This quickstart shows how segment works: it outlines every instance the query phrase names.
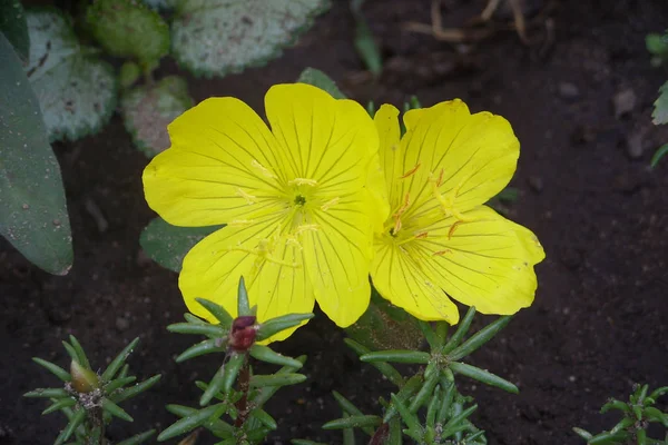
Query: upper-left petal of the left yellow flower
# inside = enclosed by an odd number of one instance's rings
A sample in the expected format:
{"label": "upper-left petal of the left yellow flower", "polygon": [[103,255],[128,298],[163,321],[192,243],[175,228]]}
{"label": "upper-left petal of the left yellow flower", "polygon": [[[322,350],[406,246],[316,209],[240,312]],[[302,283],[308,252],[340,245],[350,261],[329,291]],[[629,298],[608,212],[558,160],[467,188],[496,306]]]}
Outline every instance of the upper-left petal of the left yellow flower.
{"label": "upper-left petal of the left yellow flower", "polygon": [[144,170],[148,205],[176,226],[210,226],[263,212],[286,181],[262,119],[234,98],[207,99],[168,127],[171,148]]}

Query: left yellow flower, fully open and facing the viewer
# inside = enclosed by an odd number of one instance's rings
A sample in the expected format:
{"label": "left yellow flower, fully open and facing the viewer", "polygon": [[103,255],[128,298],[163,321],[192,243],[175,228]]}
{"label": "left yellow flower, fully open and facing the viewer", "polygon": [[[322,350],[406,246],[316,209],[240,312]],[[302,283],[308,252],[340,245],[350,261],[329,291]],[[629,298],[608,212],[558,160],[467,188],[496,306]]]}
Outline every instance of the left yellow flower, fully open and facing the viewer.
{"label": "left yellow flower, fully open and facing the viewer", "polygon": [[144,171],[146,199],[167,222],[227,224],[185,257],[184,299],[204,318],[195,298],[236,316],[244,276],[259,322],[317,300],[348,326],[369,306],[382,225],[365,187],[377,170],[375,126],[358,103],[302,83],[272,87],[265,109],[271,130],[237,99],[203,101],[169,126],[171,147]]}

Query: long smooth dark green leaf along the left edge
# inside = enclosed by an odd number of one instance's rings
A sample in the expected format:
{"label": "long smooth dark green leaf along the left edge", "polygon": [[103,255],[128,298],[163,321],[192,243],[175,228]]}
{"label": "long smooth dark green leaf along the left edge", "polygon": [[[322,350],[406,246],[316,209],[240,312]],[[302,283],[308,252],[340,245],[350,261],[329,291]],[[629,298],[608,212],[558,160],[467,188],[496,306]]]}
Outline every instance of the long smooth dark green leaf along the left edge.
{"label": "long smooth dark green leaf along the left edge", "polygon": [[72,265],[60,166],[21,61],[0,33],[0,234],[56,275]]}

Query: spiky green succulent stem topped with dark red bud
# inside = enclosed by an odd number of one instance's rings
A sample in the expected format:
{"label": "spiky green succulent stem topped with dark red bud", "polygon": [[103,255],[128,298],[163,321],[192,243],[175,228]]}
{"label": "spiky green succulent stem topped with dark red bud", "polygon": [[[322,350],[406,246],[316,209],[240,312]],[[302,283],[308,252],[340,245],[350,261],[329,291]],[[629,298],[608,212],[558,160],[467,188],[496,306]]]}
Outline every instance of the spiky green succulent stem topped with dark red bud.
{"label": "spiky green succulent stem topped with dark red bud", "polygon": [[[195,428],[208,429],[225,444],[259,444],[266,435],[277,428],[276,421],[263,409],[264,404],[283,386],[296,385],[306,376],[295,373],[305,362],[305,357],[286,357],[258,345],[255,340],[267,338],[283,329],[288,329],[313,317],[313,314],[292,314],[265,323],[256,323],[248,305],[244,279],[238,288],[239,317],[233,319],[224,307],[200,299],[199,303],[220,323],[207,324],[197,317],[186,316],[187,323],[168,326],[170,332],[205,335],[208,339],[186,349],[177,362],[203,354],[224,353],[223,364],[212,380],[197,382],[204,392],[199,407],[168,405],[167,409],[180,419],[166,428],[158,441],[187,434]],[[256,335],[257,333],[257,335]],[[283,366],[274,374],[254,374],[250,357],[273,365]],[[215,402],[212,404],[212,402]],[[229,417],[224,421],[222,417]]]}

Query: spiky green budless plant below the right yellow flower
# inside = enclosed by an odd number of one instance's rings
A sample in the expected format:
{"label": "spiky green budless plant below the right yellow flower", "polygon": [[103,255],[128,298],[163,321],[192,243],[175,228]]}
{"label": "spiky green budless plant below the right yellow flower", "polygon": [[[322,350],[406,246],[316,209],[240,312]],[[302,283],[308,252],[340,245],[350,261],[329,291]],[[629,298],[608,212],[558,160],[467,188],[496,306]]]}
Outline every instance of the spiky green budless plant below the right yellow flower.
{"label": "spiky green budless plant below the right yellow flower", "polygon": [[[397,390],[391,394],[390,402],[381,399],[384,412],[380,416],[362,413],[350,400],[335,393],[334,397],[344,415],[323,427],[344,429],[344,437],[346,429],[360,428],[372,437],[370,443],[374,444],[402,444],[404,435],[418,444],[428,445],[487,444],[484,432],[470,421],[477,405],[470,405],[472,398],[459,393],[455,376],[463,375],[510,393],[518,393],[518,388],[488,370],[462,362],[510,322],[510,317],[500,317],[466,338],[474,315],[475,308],[470,308],[450,337],[444,322],[420,322],[429,343],[429,353],[416,348],[372,352],[355,342],[346,340],[362,362],[373,364],[397,386]],[[422,367],[409,378],[397,378],[399,373],[389,362]]]}

